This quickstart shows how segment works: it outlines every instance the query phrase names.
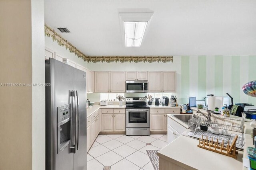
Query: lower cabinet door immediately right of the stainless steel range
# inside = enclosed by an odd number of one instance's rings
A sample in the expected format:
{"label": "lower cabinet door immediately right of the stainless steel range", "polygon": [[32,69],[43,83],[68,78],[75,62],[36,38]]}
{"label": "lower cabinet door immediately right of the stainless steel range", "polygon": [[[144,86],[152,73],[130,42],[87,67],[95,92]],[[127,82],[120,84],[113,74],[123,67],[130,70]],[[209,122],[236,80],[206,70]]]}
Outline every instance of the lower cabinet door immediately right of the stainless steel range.
{"label": "lower cabinet door immediately right of the stainless steel range", "polygon": [[150,131],[165,131],[165,113],[150,113]]}

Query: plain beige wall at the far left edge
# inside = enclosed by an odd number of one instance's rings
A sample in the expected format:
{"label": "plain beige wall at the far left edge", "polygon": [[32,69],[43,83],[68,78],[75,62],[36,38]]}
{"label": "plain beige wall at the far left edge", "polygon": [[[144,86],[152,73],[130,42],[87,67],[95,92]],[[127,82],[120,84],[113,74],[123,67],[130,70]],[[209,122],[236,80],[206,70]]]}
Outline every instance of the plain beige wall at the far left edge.
{"label": "plain beige wall at the far left edge", "polygon": [[[32,29],[35,27],[32,27],[31,14],[30,0],[0,1],[1,84],[32,83],[36,76],[41,76],[38,72],[33,72],[32,76],[32,62],[33,66],[39,66],[36,64],[39,60],[36,58],[32,60],[32,53],[38,50],[38,47],[32,47],[32,38],[35,41],[36,37],[35,34],[32,34]],[[40,51],[37,55],[40,57]],[[44,54],[42,55],[44,56]],[[39,68],[42,68],[42,65]],[[32,131],[34,128],[42,128],[42,123],[32,128],[33,116],[37,116],[33,114],[36,110],[32,108],[32,89],[32,86],[0,87],[1,170],[32,170]],[[37,93],[34,92],[33,96]],[[42,94],[41,98],[44,100],[42,89],[40,92]],[[42,100],[37,101],[37,104],[38,108],[42,109],[44,103],[39,104],[40,101]],[[36,105],[33,104],[33,106]],[[38,111],[38,113],[44,114],[44,110]],[[42,130],[38,135],[42,135],[41,139],[44,139],[44,128]],[[41,150],[44,150],[44,142],[41,147],[43,147]],[[36,155],[38,154],[36,153]],[[44,157],[44,152],[40,154]],[[44,169],[44,158],[37,161],[43,165],[42,168]]]}

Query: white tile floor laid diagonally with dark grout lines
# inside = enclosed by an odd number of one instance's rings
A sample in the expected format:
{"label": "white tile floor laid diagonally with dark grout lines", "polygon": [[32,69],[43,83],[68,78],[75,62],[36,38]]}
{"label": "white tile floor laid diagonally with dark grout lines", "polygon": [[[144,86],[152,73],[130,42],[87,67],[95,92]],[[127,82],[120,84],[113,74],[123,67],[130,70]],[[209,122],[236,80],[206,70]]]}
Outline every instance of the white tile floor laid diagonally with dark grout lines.
{"label": "white tile floor laid diagonally with dark grout lines", "polygon": [[154,170],[146,150],[166,145],[167,135],[98,135],[87,154],[87,170]]}

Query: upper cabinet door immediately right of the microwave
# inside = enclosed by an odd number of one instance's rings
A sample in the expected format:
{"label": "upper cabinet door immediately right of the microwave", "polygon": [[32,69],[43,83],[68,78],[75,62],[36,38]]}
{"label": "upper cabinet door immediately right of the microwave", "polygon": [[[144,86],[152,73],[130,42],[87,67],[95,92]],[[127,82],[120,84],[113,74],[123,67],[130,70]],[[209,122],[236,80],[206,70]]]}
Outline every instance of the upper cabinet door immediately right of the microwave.
{"label": "upper cabinet door immediately right of the microwave", "polygon": [[162,92],[162,72],[148,72],[148,92]]}

